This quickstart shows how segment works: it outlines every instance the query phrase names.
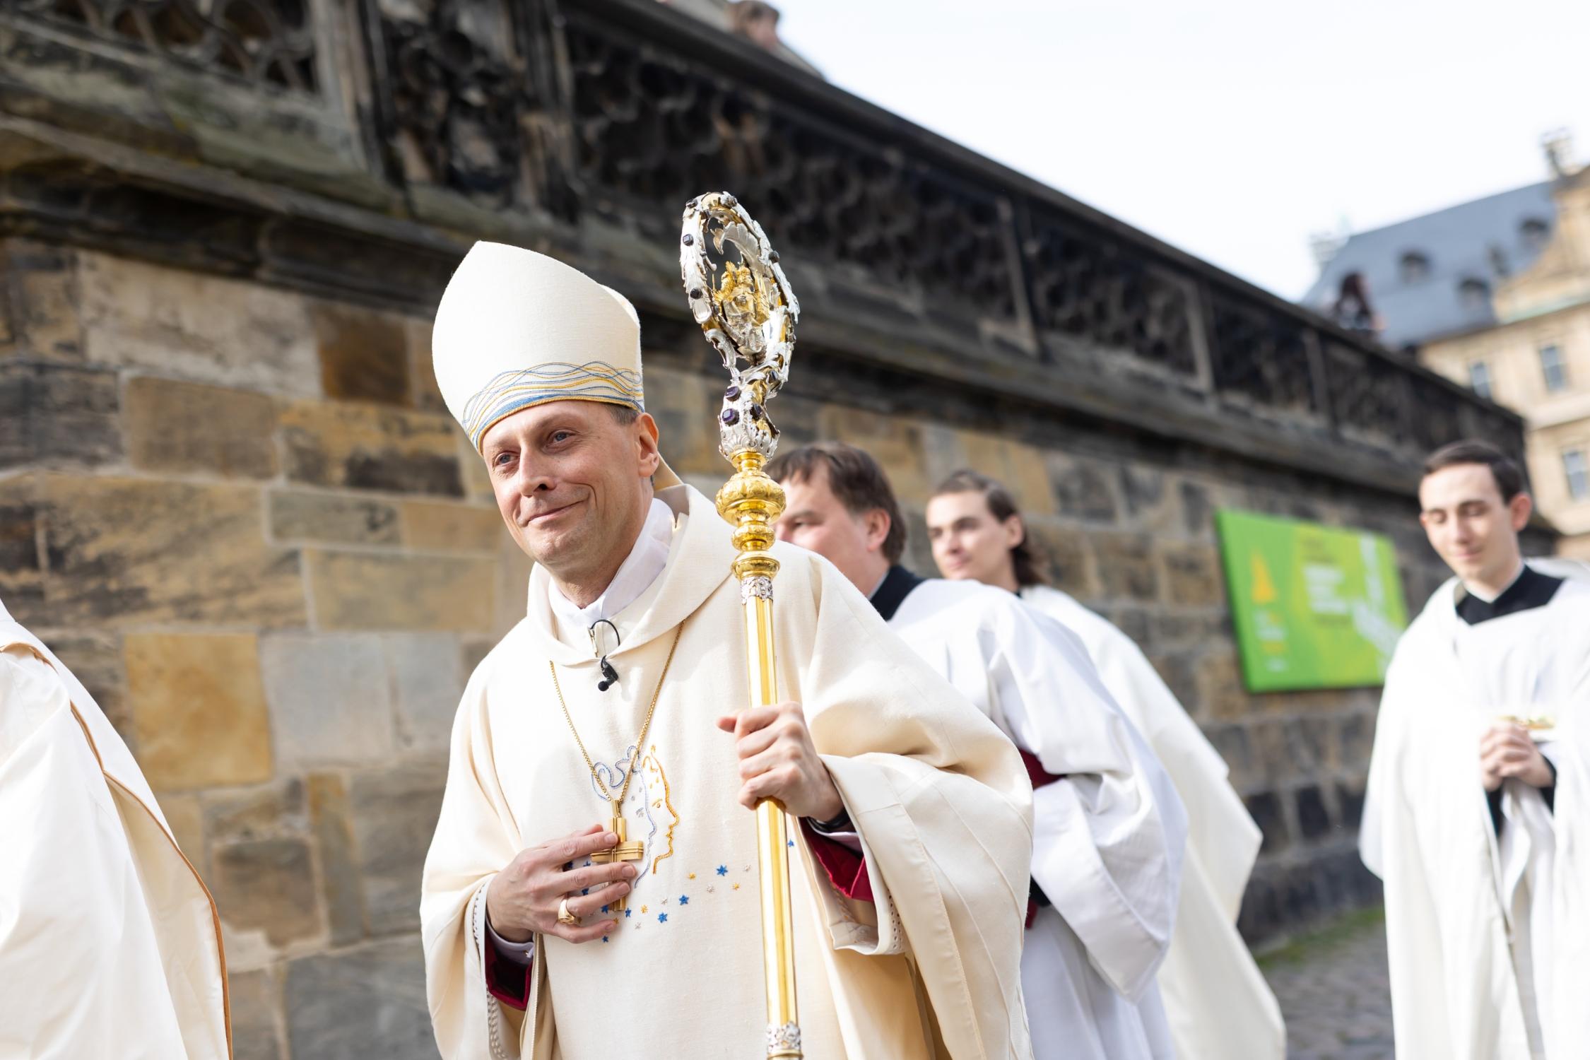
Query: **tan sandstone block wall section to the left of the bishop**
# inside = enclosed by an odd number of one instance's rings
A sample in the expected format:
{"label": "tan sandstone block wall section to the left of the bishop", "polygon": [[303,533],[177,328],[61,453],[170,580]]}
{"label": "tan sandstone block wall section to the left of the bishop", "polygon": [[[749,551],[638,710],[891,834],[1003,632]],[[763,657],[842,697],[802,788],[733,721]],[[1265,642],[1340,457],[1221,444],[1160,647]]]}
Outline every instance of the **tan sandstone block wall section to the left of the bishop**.
{"label": "tan sandstone block wall section to the left of the bishop", "polygon": [[429,324],[3,245],[0,598],[132,747],[226,933],[238,1060],[434,1055],[420,865],[528,561]]}

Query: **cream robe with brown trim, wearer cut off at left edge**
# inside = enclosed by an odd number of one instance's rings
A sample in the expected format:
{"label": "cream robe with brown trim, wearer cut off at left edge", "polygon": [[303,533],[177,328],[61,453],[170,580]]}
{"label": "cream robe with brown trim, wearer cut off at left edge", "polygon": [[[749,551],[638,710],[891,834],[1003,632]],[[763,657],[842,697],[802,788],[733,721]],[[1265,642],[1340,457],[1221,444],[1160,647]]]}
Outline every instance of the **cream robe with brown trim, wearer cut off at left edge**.
{"label": "cream robe with brown trim, wearer cut off at left edge", "polygon": [[0,607],[0,1055],[231,1057],[221,922],[87,690]]}

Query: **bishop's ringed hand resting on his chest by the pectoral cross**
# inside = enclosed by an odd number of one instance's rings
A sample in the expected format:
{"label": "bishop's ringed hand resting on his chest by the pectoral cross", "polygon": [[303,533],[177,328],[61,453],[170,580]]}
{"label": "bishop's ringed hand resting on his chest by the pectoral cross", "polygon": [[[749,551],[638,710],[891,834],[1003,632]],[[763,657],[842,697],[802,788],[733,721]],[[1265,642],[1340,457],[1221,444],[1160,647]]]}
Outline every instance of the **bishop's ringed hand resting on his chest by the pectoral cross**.
{"label": "bishop's ringed hand resting on his chest by the pectoral cross", "polygon": [[[609,850],[619,838],[606,825],[591,825],[561,839],[518,852],[487,885],[487,919],[509,942],[528,942],[531,934],[555,934],[569,942],[590,942],[617,927],[603,917],[595,923],[558,923],[558,904],[580,920],[630,893],[634,866],[577,865],[596,850]],[[590,893],[582,895],[582,890]]]}

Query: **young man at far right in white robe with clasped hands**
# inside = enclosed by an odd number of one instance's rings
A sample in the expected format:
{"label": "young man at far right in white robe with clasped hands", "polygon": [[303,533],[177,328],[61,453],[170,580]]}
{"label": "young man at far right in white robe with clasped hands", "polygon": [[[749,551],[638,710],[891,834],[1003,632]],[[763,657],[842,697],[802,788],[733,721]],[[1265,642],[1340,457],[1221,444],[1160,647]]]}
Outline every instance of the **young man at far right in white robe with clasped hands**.
{"label": "young man at far right in white robe with clasped hands", "polygon": [[1523,561],[1491,445],[1433,453],[1418,502],[1456,577],[1391,658],[1359,833],[1398,1057],[1590,1057],[1590,586]]}

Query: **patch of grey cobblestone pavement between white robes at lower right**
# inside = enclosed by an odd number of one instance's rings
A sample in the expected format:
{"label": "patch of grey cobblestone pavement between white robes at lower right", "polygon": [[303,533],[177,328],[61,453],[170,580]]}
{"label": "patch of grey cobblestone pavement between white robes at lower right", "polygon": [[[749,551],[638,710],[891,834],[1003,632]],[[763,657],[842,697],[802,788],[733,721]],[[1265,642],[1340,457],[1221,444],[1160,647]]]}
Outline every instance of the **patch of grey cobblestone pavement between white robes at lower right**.
{"label": "patch of grey cobblestone pavement between white robes at lower right", "polygon": [[1391,1060],[1385,920],[1353,914],[1261,960],[1286,1017],[1288,1060]]}

